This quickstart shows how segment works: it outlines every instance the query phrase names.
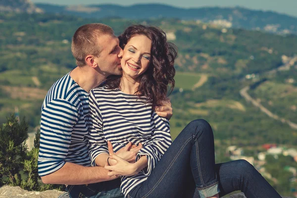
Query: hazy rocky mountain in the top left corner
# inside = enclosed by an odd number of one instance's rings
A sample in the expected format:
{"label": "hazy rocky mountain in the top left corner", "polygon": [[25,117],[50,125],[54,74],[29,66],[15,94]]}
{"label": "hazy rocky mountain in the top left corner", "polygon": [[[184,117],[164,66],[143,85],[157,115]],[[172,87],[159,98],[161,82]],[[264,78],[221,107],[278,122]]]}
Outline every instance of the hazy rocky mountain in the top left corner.
{"label": "hazy rocky mountain in the top left corner", "polygon": [[42,13],[31,0],[0,0],[0,11]]}

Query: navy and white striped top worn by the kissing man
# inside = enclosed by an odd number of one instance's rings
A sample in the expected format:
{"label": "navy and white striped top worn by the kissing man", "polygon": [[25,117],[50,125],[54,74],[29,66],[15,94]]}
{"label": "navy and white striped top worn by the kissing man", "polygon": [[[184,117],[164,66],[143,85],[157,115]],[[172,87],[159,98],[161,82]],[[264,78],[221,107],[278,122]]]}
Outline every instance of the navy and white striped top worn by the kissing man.
{"label": "navy and white striped top worn by the kissing man", "polygon": [[90,94],[69,74],[51,86],[42,105],[40,176],[60,169],[65,162],[91,166],[87,144]]}

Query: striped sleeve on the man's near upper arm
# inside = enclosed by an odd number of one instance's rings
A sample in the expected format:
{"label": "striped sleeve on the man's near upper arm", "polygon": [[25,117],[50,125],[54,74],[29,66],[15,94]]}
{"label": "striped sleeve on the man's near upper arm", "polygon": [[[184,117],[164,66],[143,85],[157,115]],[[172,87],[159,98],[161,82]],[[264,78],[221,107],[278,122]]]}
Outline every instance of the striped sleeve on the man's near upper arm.
{"label": "striped sleeve on the man's near upper arm", "polygon": [[40,176],[57,171],[65,164],[74,125],[79,111],[69,101],[54,99],[42,107],[38,173]]}

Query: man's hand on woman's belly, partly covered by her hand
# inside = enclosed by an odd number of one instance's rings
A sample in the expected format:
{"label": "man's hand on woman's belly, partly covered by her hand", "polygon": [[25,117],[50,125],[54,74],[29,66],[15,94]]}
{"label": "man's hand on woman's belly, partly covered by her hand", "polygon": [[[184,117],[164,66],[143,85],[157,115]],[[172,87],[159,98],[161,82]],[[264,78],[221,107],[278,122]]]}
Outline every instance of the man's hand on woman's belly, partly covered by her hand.
{"label": "man's hand on woman's belly, partly covered by her hand", "polygon": [[[112,144],[108,141],[107,145],[108,145],[109,155],[113,155],[114,152],[113,152]],[[138,151],[142,148],[143,148],[143,145],[141,143],[139,143],[138,146],[136,146],[136,145],[132,145],[132,143],[129,142],[124,148],[119,149],[115,154],[120,158],[126,160],[127,162],[134,163]],[[111,165],[114,165],[116,163],[116,160],[109,159],[108,161],[109,161],[109,164]]]}

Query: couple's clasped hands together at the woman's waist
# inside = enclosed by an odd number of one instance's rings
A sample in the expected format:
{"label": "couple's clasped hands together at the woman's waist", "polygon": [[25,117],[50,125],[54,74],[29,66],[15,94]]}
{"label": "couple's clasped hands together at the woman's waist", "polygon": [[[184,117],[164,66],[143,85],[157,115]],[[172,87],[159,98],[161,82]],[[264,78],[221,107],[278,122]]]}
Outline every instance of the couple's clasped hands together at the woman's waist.
{"label": "couple's clasped hands together at the woman's waist", "polygon": [[[136,175],[141,171],[141,167],[135,163],[136,155],[143,148],[141,143],[138,146],[129,142],[124,148],[117,152],[113,152],[111,143],[108,141],[109,158],[106,161],[104,168],[109,170],[108,176],[131,176]],[[109,163],[109,165],[108,165]],[[139,170],[140,169],[140,170]]]}

